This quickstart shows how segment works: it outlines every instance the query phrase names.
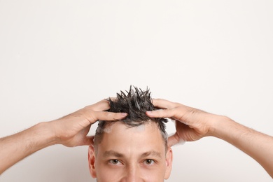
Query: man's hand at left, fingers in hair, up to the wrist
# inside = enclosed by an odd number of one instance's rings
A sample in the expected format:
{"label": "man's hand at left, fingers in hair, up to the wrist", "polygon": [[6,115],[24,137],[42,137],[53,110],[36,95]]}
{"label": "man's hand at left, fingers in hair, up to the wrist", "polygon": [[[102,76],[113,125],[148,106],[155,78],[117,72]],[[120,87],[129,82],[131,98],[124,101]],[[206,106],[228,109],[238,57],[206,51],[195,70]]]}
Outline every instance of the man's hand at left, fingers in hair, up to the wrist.
{"label": "man's hand at left, fingers in hair, up to the wrist", "polygon": [[87,137],[87,134],[93,123],[97,120],[121,120],[127,116],[127,113],[106,112],[108,109],[109,102],[104,99],[52,121],[50,127],[54,129],[56,143],[69,147],[92,145],[93,137]]}

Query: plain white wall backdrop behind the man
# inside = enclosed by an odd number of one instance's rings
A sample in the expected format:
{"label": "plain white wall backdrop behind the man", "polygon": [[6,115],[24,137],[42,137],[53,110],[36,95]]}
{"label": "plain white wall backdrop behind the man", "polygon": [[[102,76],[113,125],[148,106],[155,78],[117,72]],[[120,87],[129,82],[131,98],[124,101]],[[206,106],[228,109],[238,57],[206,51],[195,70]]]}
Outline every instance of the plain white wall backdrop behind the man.
{"label": "plain white wall backdrop behind the man", "polygon": [[[130,85],[273,135],[272,9],[270,0],[0,0],[0,137]],[[0,181],[94,179],[87,146],[51,146]],[[248,155],[207,137],[174,147],[167,181],[272,179]]]}

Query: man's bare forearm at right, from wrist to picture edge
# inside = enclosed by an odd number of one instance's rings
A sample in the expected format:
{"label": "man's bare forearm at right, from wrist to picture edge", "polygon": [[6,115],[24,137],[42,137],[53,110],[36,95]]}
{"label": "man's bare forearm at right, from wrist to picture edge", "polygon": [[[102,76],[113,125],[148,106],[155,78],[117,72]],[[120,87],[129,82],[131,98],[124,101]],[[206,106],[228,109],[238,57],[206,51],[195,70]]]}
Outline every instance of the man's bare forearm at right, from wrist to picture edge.
{"label": "man's bare forearm at right, from wrist to picture edge", "polygon": [[211,135],[228,141],[264,167],[273,178],[273,137],[220,116],[211,127]]}

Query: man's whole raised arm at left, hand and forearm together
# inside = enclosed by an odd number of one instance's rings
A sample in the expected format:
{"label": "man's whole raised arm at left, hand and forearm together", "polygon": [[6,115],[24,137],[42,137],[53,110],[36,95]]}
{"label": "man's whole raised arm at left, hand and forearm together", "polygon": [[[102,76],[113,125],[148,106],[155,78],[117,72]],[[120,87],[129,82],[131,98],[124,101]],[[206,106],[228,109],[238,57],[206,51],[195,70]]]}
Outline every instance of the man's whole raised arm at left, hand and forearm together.
{"label": "man's whole raised arm at left, hand and forearm together", "polygon": [[[121,120],[126,113],[106,112],[109,102],[102,100],[74,113],[50,122],[43,122],[27,130],[0,139],[0,174],[31,153],[54,144],[64,146],[92,145],[87,134],[97,120]],[[20,152],[18,152],[20,151]]]}

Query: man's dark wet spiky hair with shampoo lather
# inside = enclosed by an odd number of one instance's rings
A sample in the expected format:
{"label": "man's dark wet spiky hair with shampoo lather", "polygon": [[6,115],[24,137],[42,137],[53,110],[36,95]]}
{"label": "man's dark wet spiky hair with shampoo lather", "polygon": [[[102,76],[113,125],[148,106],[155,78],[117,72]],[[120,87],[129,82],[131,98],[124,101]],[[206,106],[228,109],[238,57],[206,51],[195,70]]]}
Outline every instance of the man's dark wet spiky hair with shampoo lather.
{"label": "man's dark wet spiky hair with shampoo lather", "polygon": [[[162,138],[165,141],[165,146],[167,147],[167,132],[166,132],[166,118],[150,118],[146,115],[146,111],[156,110],[153,106],[151,99],[150,90],[141,90],[137,87],[130,86],[129,92],[120,91],[117,93],[115,99],[107,99],[110,104],[109,112],[113,113],[127,113],[128,115],[123,119],[119,120],[123,122],[127,127],[137,127],[139,125],[144,125],[151,121],[158,125],[158,129],[162,134]],[[94,146],[102,141],[103,133],[105,132],[106,125],[113,125],[115,121],[105,121],[99,120],[99,124],[94,137]]]}

